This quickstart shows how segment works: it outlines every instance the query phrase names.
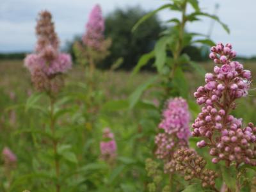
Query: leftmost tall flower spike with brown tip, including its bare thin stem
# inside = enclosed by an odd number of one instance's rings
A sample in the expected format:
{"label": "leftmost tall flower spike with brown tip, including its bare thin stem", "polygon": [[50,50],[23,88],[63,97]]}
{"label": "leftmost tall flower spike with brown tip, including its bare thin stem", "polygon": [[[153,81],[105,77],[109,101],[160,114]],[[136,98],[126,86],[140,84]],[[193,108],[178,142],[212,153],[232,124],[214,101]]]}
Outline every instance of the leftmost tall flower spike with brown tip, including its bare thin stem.
{"label": "leftmost tall flower spike with brown tip, including its bare thin stem", "polygon": [[[56,119],[54,118],[54,104],[56,96],[63,87],[63,75],[72,65],[69,54],[59,51],[58,36],[54,31],[52,15],[50,12],[39,13],[36,24],[38,38],[35,53],[25,58],[25,66],[31,72],[31,80],[40,92],[47,93],[50,100],[50,129],[52,133],[52,150],[54,154],[54,169],[57,180],[60,179],[60,160],[58,157],[58,144],[56,139]],[[56,182],[56,192],[61,191],[59,182]]]}

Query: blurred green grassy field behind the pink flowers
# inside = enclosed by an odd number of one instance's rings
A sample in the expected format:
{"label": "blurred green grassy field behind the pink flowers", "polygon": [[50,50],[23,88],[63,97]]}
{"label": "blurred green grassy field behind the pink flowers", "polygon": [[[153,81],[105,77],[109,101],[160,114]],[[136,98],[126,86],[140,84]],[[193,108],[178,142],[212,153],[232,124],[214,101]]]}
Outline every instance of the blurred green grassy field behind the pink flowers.
{"label": "blurred green grassy field behind the pink flowers", "polygon": [[[13,189],[25,189],[26,186],[29,186],[29,180],[20,182],[20,178],[22,180],[24,175],[36,172],[40,161],[47,162],[47,156],[40,156],[40,152],[44,150],[44,148],[40,147],[40,144],[49,142],[35,136],[33,133],[26,133],[28,129],[44,129],[45,119],[35,110],[29,109],[26,111],[22,108],[22,104],[24,105],[29,95],[34,92],[33,86],[30,83],[30,74],[23,67],[22,62],[21,60],[0,61],[0,148],[4,146],[12,148],[19,159],[15,176],[13,176]],[[237,105],[238,109],[234,113],[234,115],[243,118],[245,122],[250,120],[253,123],[256,123],[255,108],[252,107],[256,104],[254,90],[256,79],[255,64],[244,64],[244,68],[252,70],[252,90],[249,93],[250,97],[240,99]],[[212,63],[202,63],[202,65],[207,71],[213,68]],[[118,145],[118,163],[113,172],[108,171],[108,173],[104,174],[92,172],[89,176],[84,176],[83,179],[86,178],[86,187],[84,189],[93,189],[93,186],[102,186],[102,191],[106,189],[108,191],[125,191],[123,188],[129,188],[129,190],[131,188],[130,191],[145,189],[145,186],[141,185],[141,180],[147,182],[147,179],[141,179],[141,177],[147,178],[144,162],[145,157],[150,157],[152,150],[154,150],[154,132],[156,131],[157,124],[154,121],[145,122],[143,119],[146,116],[150,118],[152,114],[150,114],[150,111],[146,113],[143,109],[104,111],[101,107],[105,106],[109,100],[127,99],[139,84],[143,83],[153,74],[141,72],[131,77],[130,72],[97,71],[97,79],[95,81],[97,81],[99,92],[95,95],[95,98],[99,98],[100,101],[99,114],[93,116],[95,121],[94,127],[89,125],[86,122],[86,118],[83,117],[84,110],[86,110],[81,102],[81,98],[86,95],[86,89],[83,88],[84,74],[83,67],[74,66],[67,75],[66,86],[62,94],[72,95],[76,93],[80,99],[72,100],[67,104],[67,107],[72,104],[72,111],[70,115],[65,116],[59,122],[61,129],[67,129],[67,137],[62,142],[73,143],[72,148],[76,152],[79,165],[81,166],[98,161],[99,150],[97,148],[99,148],[102,128],[111,127],[113,132],[115,132]],[[198,76],[194,72],[186,72],[186,77],[189,83],[189,92],[191,93],[190,99],[195,102],[193,92],[195,92],[197,86],[204,84],[204,77]],[[154,99],[150,95],[150,91],[145,93],[143,98]],[[48,101],[43,98],[40,104],[44,106],[45,102]],[[191,122],[193,122],[193,119],[191,119]],[[70,127],[72,127],[72,131],[70,131]],[[82,133],[84,130],[86,130],[86,136],[81,134],[81,138],[77,138],[77,132]],[[33,151],[36,151],[36,154]],[[83,151],[83,156],[79,155],[81,151]],[[76,166],[74,166],[75,168]],[[44,170],[44,168],[39,166],[39,170]],[[0,175],[1,173],[3,173],[3,170],[0,170]],[[99,175],[104,177],[104,179],[99,181]],[[77,177],[71,177],[71,180],[72,183],[76,183],[74,180],[77,180]],[[99,182],[102,182],[102,184],[99,184]],[[111,186],[109,185],[110,182]],[[77,186],[79,185],[77,184]],[[46,187],[43,184],[36,183],[30,189],[36,189],[39,192],[38,188],[42,188],[41,191],[44,191]],[[79,191],[76,188],[68,191],[76,190]],[[127,189],[126,191],[129,190]]]}

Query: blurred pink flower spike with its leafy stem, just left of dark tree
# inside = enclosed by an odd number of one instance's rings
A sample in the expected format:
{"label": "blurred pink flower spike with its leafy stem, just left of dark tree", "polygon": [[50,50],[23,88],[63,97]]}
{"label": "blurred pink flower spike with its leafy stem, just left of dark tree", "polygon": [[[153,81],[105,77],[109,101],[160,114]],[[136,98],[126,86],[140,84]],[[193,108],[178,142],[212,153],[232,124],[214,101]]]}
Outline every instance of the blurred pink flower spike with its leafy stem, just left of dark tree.
{"label": "blurred pink flower spike with its leafy stem, just left of dark tree", "polygon": [[111,40],[104,36],[104,29],[102,10],[100,5],[96,4],[90,12],[81,40],[74,42],[73,45],[76,63],[85,67],[85,79],[81,83],[86,92],[86,97],[82,100],[85,108],[82,113],[88,130],[95,126],[97,119],[95,114],[99,111],[101,101],[104,99],[104,95],[98,88],[100,77],[95,70],[97,64],[108,56],[108,49],[111,46]]}

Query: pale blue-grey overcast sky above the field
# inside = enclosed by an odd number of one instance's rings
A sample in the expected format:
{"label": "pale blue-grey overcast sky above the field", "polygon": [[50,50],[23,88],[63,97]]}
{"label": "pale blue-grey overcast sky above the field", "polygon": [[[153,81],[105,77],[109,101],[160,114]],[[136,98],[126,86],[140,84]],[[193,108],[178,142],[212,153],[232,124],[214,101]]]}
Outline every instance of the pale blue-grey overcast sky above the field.
{"label": "pale blue-grey overcast sky above the field", "polygon": [[[164,0],[0,0],[0,52],[32,51],[35,38],[36,16],[40,10],[52,12],[56,31],[62,46],[74,35],[84,32],[84,24],[93,5],[99,3],[103,14],[125,8],[141,6],[153,10]],[[256,1],[255,0],[200,0],[205,12],[213,13],[214,4],[220,4],[218,16],[230,28],[228,35],[215,23],[212,39],[216,42],[230,42],[243,56],[256,55]],[[168,20],[175,13],[161,12],[161,20]],[[210,20],[204,19],[188,25],[188,31],[208,33]]]}

